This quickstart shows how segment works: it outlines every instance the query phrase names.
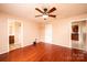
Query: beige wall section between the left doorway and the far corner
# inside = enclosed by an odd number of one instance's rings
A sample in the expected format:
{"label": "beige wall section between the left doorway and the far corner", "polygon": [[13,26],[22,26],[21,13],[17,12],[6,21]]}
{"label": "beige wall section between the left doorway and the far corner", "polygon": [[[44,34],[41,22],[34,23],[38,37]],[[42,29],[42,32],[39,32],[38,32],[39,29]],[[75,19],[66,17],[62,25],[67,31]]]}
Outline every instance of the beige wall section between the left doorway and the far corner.
{"label": "beige wall section between the left doorway and the far corner", "polygon": [[24,21],[23,22],[23,46],[30,45],[40,39],[40,29],[37,22]]}

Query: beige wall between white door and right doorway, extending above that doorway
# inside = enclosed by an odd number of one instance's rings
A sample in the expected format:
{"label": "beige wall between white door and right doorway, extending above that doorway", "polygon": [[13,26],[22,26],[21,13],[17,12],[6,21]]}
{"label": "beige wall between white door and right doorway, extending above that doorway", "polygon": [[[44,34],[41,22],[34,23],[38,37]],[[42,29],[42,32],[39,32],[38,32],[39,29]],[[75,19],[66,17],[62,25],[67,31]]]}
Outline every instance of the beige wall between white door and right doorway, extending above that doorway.
{"label": "beige wall between white door and right doorway, extending above that doorway", "polygon": [[70,42],[70,24],[75,21],[87,19],[87,14],[75,15],[53,22],[53,44],[62,45],[66,47],[72,46]]}

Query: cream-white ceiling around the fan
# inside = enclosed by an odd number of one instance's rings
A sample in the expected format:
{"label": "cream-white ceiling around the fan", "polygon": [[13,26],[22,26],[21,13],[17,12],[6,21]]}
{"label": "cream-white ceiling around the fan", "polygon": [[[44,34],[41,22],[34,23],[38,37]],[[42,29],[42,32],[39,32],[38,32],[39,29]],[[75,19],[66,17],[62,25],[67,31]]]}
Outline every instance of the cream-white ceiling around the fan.
{"label": "cream-white ceiling around the fan", "polygon": [[[26,20],[32,21],[43,21],[43,18],[35,18],[35,15],[40,14],[35,10],[36,8],[40,8],[41,10],[46,7],[48,10],[53,7],[56,7],[56,11],[53,12],[53,14],[56,14],[56,19],[63,19],[72,15],[83,14],[87,13],[87,4],[86,3],[50,3],[50,4],[35,4],[35,3],[2,3],[0,4],[0,11],[6,12],[19,18],[23,18]],[[54,20],[53,18],[48,18]]]}

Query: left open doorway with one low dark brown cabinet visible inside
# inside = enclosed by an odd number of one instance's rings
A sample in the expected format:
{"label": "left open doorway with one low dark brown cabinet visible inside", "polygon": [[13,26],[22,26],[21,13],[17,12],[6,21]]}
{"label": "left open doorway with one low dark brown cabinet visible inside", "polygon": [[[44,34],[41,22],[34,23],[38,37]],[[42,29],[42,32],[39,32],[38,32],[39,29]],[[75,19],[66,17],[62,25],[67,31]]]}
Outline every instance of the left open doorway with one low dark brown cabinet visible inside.
{"label": "left open doorway with one low dark brown cabinet visible inside", "polygon": [[8,20],[9,51],[19,48],[23,42],[23,24],[19,20]]}

